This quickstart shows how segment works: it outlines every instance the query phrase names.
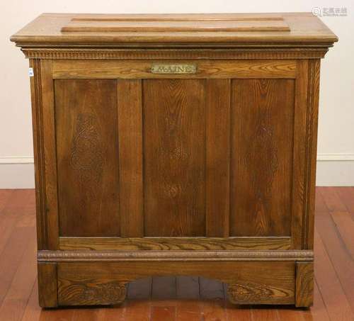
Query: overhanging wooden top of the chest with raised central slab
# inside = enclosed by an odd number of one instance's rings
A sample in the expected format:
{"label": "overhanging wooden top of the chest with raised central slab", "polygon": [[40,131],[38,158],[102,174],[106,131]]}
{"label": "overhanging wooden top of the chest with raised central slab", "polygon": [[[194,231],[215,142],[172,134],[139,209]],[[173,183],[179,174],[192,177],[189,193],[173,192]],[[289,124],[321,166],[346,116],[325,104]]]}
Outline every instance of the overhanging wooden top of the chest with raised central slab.
{"label": "overhanging wooden top of the chest with raised central slab", "polygon": [[43,13],[11,40],[21,47],[329,47],[338,39],[312,13]]}

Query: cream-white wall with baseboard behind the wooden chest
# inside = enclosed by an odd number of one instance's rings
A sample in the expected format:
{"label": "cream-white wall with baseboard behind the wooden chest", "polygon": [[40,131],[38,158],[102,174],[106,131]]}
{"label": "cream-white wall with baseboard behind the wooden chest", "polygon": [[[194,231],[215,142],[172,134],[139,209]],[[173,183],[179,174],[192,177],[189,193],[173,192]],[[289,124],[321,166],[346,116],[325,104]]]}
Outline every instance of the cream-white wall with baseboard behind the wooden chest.
{"label": "cream-white wall with baseboard behind the wooden chest", "polygon": [[9,36],[42,12],[198,13],[312,11],[346,7],[322,20],[340,38],[322,60],[317,184],[354,185],[353,1],[11,0],[1,2],[0,188],[33,187],[28,60]]}

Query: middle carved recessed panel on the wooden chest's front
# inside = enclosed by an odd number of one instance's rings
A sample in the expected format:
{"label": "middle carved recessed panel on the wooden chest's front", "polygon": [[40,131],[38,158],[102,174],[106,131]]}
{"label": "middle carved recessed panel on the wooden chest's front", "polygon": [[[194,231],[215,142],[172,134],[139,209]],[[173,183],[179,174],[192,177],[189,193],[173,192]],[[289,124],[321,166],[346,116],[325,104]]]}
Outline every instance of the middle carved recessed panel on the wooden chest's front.
{"label": "middle carved recessed panel on the wooden chest's front", "polygon": [[142,81],[144,236],[205,236],[205,80]]}

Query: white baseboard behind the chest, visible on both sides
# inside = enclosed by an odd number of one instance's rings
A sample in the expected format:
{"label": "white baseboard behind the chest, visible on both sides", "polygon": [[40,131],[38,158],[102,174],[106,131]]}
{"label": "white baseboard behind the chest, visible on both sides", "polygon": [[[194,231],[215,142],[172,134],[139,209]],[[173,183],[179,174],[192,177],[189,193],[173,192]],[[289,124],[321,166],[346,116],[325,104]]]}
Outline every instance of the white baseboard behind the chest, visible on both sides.
{"label": "white baseboard behind the chest, visible on both sides", "polygon": [[[34,188],[33,157],[0,157],[0,188]],[[317,186],[354,186],[354,154],[318,154]]]}

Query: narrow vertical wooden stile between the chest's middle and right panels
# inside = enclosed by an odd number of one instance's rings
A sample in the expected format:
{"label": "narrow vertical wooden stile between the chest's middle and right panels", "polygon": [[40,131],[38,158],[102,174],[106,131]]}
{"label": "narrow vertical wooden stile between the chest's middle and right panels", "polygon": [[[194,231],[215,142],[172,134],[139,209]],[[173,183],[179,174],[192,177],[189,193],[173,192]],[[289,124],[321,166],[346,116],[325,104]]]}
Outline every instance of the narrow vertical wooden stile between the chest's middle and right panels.
{"label": "narrow vertical wooden stile between the chest's middle and right panels", "polygon": [[230,81],[206,83],[206,236],[229,236]]}

